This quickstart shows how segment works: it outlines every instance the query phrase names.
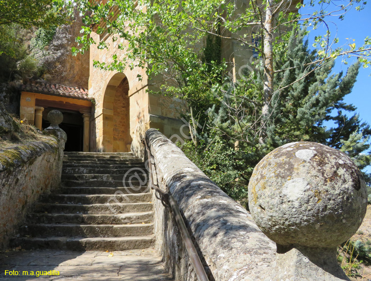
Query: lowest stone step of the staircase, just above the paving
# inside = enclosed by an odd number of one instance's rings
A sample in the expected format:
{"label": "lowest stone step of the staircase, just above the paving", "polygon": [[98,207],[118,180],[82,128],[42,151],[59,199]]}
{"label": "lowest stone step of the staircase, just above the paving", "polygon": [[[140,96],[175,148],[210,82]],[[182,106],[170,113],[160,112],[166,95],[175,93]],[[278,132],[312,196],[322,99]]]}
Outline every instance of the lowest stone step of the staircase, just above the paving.
{"label": "lowest stone step of the staircase, just above the paving", "polygon": [[144,249],[153,246],[154,236],[130,236],[114,238],[15,238],[11,247],[21,246],[22,249],[60,249],[73,251],[122,251],[128,249]]}

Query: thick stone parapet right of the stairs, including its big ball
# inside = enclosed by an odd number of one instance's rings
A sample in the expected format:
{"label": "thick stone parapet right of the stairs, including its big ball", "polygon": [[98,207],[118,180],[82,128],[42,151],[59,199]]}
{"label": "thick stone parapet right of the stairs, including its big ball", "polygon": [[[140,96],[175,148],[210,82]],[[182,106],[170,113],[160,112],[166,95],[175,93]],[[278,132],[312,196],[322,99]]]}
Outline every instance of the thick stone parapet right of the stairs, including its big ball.
{"label": "thick stone parapet right of the stairs, including its big ball", "polygon": [[[267,155],[249,185],[260,230],[164,135],[149,129],[146,143],[154,184],[178,202],[210,281],[349,280],[336,263],[336,246],[360,226],[367,195],[345,154],[302,142]],[[156,250],[176,281],[196,280],[171,213],[153,201]]]}

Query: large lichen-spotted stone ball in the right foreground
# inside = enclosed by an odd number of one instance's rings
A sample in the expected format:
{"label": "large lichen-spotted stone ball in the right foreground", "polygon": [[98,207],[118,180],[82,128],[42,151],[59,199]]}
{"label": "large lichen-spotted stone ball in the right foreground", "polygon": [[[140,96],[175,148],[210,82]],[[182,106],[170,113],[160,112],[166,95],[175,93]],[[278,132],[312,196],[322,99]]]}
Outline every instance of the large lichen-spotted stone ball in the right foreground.
{"label": "large lichen-spotted stone ball in the right foreground", "polygon": [[255,222],[281,245],[335,247],[360,227],[367,190],[344,153],[313,142],[283,145],[254,168],[249,207]]}

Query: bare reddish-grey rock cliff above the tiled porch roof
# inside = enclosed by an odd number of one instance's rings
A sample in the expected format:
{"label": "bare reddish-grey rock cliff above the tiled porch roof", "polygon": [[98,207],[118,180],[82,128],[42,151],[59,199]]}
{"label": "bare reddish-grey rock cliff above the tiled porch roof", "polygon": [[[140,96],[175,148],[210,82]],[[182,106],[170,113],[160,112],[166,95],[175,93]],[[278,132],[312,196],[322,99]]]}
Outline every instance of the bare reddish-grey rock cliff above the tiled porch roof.
{"label": "bare reddish-grey rock cliff above the tiled porch roof", "polygon": [[89,52],[73,56],[71,48],[77,47],[76,37],[80,35],[81,17],[75,14],[71,25],[57,28],[53,40],[37,57],[46,70],[42,79],[74,87],[88,88]]}

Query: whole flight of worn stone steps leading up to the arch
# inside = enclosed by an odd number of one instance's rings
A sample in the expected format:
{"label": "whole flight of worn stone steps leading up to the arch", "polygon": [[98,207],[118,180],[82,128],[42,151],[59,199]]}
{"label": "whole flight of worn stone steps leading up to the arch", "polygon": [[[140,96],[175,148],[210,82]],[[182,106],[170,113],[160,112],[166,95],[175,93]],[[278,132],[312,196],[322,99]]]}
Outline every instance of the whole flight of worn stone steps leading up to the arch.
{"label": "whole flight of worn stone steps leading up to the arch", "polygon": [[66,152],[60,190],[41,198],[11,246],[98,251],[152,246],[152,194],[144,171],[131,153]]}

